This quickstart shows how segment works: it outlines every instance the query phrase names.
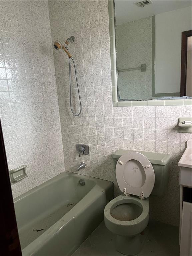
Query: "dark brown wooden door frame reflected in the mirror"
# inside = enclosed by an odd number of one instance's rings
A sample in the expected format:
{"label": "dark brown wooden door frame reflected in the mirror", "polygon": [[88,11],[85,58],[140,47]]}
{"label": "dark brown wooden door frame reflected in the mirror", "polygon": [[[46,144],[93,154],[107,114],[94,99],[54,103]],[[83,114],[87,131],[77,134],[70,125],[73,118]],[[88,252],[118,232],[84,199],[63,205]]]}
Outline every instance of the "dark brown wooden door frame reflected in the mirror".
{"label": "dark brown wooden door frame reflected in the mirror", "polygon": [[181,94],[186,95],[186,81],[187,81],[187,38],[191,36],[191,30],[182,32],[181,35]]}

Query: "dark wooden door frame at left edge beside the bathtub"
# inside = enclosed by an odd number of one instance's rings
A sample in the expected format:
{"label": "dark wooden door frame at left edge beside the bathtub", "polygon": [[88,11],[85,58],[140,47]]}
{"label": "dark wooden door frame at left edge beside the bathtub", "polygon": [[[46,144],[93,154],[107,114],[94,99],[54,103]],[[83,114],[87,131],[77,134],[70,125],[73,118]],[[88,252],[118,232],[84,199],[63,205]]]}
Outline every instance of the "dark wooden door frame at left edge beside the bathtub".
{"label": "dark wooden door frame at left edge beside the bathtub", "polygon": [[0,120],[0,255],[22,256]]}

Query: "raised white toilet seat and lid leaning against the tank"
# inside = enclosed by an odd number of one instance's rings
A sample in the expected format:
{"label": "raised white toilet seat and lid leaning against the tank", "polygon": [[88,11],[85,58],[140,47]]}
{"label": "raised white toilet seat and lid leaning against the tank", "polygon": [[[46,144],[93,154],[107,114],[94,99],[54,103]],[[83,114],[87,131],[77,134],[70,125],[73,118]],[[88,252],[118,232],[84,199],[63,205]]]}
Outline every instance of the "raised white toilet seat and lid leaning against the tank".
{"label": "raised white toilet seat and lid leaning against the tank", "polygon": [[155,183],[153,166],[143,154],[129,152],[116,165],[117,183],[124,194],[149,197]]}

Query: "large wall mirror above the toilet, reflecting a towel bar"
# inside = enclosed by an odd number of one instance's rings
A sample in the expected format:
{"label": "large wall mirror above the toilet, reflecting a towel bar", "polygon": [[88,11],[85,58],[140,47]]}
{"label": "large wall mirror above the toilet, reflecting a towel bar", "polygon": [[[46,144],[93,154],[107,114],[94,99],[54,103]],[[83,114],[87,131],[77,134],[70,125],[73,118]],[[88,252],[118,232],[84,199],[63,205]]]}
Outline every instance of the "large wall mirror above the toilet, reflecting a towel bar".
{"label": "large wall mirror above the toilet, reflecting a towel bar", "polygon": [[[185,96],[181,45],[182,32],[191,30],[191,1],[115,0],[114,11],[118,101]],[[191,68],[186,70],[189,84]]]}

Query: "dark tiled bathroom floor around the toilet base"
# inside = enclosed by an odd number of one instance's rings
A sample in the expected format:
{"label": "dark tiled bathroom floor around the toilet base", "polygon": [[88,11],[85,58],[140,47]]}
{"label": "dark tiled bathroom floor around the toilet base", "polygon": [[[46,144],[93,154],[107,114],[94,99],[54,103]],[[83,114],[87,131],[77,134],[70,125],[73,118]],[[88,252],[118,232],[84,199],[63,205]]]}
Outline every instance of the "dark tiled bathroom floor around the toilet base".
{"label": "dark tiled bathroom floor around the toilet base", "polygon": [[[179,228],[153,220],[138,256],[179,256]],[[115,249],[115,235],[102,222],[72,256],[123,256]]]}

